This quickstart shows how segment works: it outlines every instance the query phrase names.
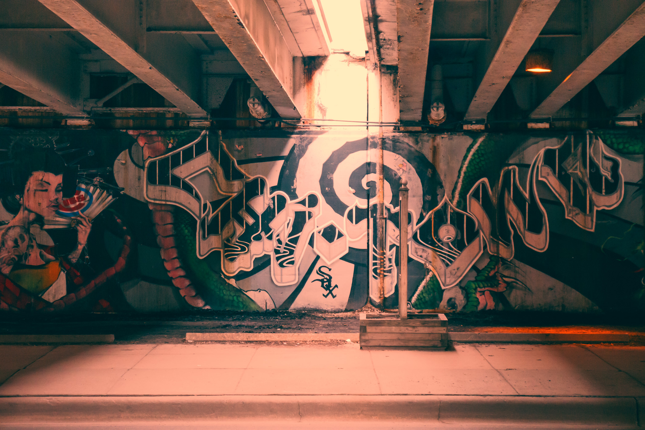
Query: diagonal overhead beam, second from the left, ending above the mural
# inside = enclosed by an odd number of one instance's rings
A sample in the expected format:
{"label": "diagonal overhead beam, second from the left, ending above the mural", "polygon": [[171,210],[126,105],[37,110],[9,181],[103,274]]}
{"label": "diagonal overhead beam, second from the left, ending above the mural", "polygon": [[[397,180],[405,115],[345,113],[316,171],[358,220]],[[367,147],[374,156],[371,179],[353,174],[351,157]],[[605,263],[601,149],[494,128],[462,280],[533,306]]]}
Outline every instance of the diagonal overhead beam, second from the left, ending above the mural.
{"label": "diagonal overhead beam, second from the left, ending above the mural", "polygon": [[[122,64],[125,68],[130,70],[141,81],[148,84],[156,92],[163,95],[170,103],[180,108],[189,117],[206,116],[207,113],[194,98],[200,96],[199,91],[199,64],[194,64],[197,73],[192,72],[190,67],[192,64],[186,64],[186,61],[177,61],[172,59],[172,55],[155,52],[154,48],[159,46],[148,46],[146,56],[157,54],[157,61],[152,64],[151,61],[145,59],[135,48],[127,43],[122,37],[117,36],[116,32],[109,28],[106,23],[99,20],[92,12],[86,9],[77,0],[39,0],[49,10],[58,15],[61,19],[66,21],[87,39],[92,41],[96,46],[99,46],[106,54],[110,55],[113,59]],[[106,3],[92,4],[98,7],[112,7]],[[110,16],[111,14],[103,14]],[[123,15],[116,15],[115,18]],[[123,19],[122,19],[123,21]],[[133,43],[134,44],[134,43]],[[162,44],[163,45],[163,44]],[[163,46],[161,47],[163,49]],[[157,49],[158,50],[158,49]],[[142,50],[144,51],[144,50]],[[171,57],[170,59],[168,57]],[[163,61],[162,61],[163,59]],[[172,61],[175,60],[175,61]],[[164,62],[166,66],[170,63],[170,67],[174,68],[177,75],[174,79],[170,79],[168,70],[162,72]],[[182,75],[179,76],[179,72]],[[188,78],[191,73],[195,73],[194,79]],[[183,82],[181,82],[183,81]],[[179,83],[181,82],[181,84]],[[197,84],[191,84],[196,82]]]}

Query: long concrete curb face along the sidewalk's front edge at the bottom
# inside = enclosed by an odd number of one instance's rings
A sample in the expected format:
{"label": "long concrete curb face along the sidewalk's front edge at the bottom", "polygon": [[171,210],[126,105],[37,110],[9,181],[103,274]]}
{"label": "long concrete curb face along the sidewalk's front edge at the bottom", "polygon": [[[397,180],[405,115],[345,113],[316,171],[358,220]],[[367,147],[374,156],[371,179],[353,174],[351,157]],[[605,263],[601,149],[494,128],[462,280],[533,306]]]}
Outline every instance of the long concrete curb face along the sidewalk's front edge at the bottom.
{"label": "long concrete curb face along the sidewalk's front edge at the bottom", "polygon": [[4,424],[122,420],[405,420],[638,426],[633,397],[433,395],[88,396],[0,398]]}

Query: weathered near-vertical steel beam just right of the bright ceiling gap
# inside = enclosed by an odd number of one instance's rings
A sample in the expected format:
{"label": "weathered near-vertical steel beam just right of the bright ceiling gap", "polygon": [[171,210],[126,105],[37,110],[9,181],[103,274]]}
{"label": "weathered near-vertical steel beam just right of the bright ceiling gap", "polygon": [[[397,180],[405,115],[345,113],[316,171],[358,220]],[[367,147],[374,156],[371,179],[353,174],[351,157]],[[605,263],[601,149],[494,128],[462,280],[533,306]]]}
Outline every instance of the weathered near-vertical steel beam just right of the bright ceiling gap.
{"label": "weathered near-vertical steel beam just right of the bright ceiling gap", "polygon": [[434,0],[397,1],[399,115],[421,121]]}

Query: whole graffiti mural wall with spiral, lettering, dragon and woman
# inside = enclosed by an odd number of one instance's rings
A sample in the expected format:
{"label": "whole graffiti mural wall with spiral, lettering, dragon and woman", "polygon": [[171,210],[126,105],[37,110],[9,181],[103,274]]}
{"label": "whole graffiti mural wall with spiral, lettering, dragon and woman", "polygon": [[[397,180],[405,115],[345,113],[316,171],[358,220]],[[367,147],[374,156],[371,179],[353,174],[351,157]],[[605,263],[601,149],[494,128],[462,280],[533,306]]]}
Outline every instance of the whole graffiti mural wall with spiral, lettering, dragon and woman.
{"label": "whole graffiti mural wall with spiral, lettering, dragon and woman", "polygon": [[[3,133],[3,309],[379,300],[379,153],[364,133]],[[615,130],[388,135],[386,307],[397,306],[402,244],[412,308],[644,307],[643,141]],[[21,148],[43,161],[23,168]]]}

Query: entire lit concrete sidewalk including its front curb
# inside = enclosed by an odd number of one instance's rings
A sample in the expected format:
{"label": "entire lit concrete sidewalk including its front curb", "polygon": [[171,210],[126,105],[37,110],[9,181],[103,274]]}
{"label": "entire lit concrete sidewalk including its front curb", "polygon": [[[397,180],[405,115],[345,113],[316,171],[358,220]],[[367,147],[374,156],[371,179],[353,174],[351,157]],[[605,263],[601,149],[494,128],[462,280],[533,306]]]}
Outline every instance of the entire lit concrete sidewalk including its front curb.
{"label": "entire lit concrete sidewalk including its front curb", "polygon": [[640,409],[640,425],[645,420],[645,347],[455,344],[430,352],[295,342],[5,345],[0,357],[5,425],[79,420],[83,413],[94,420],[323,414],[635,428]]}

